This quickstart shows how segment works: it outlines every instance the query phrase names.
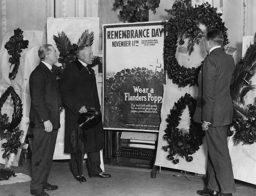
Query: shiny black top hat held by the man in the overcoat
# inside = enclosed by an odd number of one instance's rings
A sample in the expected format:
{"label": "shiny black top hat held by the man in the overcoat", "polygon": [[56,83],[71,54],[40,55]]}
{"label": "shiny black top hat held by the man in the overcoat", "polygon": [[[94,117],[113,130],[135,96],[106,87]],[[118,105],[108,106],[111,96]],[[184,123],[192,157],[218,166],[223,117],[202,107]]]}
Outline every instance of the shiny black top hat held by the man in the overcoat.
{"label": "shiny black top hat held by the man in the overcoat", "polygon": [[97,110],[88,110],[86,113],[81,113],[77,120],[78,126],[85,130],[97,127],[100,123],[101,113]]}

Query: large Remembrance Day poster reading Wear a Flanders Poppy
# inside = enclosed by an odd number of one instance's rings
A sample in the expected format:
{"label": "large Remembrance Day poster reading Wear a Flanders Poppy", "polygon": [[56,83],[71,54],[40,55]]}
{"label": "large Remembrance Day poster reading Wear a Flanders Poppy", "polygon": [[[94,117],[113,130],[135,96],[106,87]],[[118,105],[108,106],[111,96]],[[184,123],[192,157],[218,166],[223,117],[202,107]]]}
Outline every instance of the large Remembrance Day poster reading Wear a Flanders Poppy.
{"label": "large Remembrance Day poster reading Wear a Flanders Poppy", "polygon": [[158,131],[166,80],[162,22],[102,28],[104,129]]}

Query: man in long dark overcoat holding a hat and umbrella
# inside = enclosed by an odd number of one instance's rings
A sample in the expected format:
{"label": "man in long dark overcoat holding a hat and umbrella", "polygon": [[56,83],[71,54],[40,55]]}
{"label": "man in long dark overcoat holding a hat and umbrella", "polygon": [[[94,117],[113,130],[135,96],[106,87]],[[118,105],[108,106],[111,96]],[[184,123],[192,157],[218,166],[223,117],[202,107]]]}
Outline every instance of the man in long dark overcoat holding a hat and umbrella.
{"label": "man in long dark overcoat holding a hat and umbrella", "polygon": [[[101,113],[97,83],[94,70],[89,64],[93,61],[93,52],[89,45],[82,45],[77,49],[78,59],[67,66],[62,74],[60,93],[66,105],[65,117],[65,153],[71,154],[71,171],[77,181],[80,181],[78,164],[71,146],[69,135],[74,129],[79,113],[86,113],[89,106]],[[89,177],[111,177],[100,168],[100,150],[104,148],[104,134],[102,122],[99,126],[85,130],[85,152],[88,158]],[[84,155],[83,155],[84,156]],[[84,176],[81,181],[86,182]]]}

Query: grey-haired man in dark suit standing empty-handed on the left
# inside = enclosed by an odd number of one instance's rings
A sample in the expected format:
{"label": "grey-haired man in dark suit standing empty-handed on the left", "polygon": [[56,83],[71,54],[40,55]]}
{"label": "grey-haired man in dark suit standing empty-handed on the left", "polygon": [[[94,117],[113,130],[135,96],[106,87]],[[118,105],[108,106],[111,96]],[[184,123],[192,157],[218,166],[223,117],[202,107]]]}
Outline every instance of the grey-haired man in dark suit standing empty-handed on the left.
{"label": "grey-haired man in dark suit standing empty-handed on the left", "polygon": [[61,96],[55,74],[51,71],[58,54],[50,44],[40,46],[39,65],[29,78],[31,97],[30,126],[33,128],[33,153],[31,167],[31,194],[49,196],[44,190],[58,189],[47,182],[60,127]]}

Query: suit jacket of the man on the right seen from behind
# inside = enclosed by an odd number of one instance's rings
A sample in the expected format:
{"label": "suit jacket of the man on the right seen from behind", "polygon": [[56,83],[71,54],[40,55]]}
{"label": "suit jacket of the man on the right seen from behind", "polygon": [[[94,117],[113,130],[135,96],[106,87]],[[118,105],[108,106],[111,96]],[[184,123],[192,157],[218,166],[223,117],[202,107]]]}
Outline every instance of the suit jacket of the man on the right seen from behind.
{"label": "suit jacket of the man on the right seen from behind", "polygon": [[233,119],[230,85],[234,81],[234,59],[222,48],[205,57],[198,74],[197,107],[193,120],[212,127],[229,125]]}

